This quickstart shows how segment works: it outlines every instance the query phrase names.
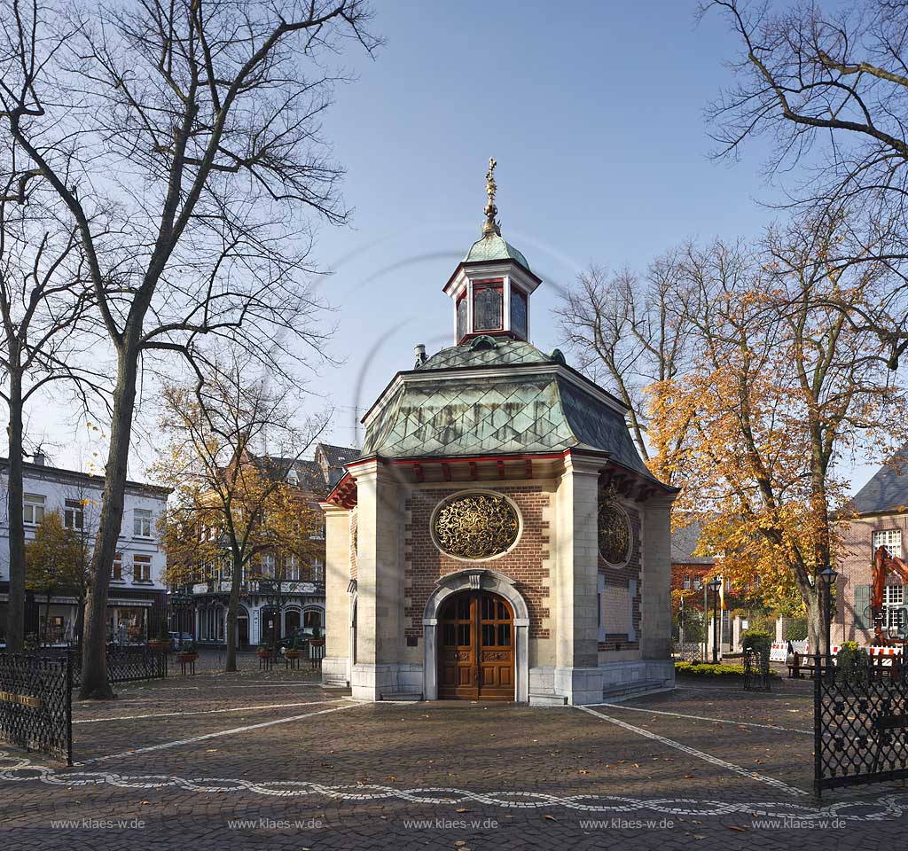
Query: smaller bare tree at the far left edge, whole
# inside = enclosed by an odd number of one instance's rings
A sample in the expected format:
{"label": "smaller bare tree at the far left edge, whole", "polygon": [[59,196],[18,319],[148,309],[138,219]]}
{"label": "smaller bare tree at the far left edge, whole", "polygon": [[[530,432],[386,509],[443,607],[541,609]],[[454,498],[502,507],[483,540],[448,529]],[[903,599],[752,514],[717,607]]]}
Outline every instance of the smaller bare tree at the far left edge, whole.
{"label": "smaller bare tree at the far left edge, whole", "polygon": [[[23,646],[25,527],[23,525],[24,414],[29,402],[61,380],[86,395],[101,381],[80,367],[81,350],[93,336],[80,325],[91,305],[83,254],[71,221],[45,206],[30,171],[19,167],[15,143],[5,149],[0,184],[0,397],[6,403],[9,464],[9,602],[6,646]],[[52,193],[51,193],[52,194]],[[53,201],[53,198],[51,199]],[[97,357],[97,352],[95,352]],[[87,401],[87,399],[86,399]]]}

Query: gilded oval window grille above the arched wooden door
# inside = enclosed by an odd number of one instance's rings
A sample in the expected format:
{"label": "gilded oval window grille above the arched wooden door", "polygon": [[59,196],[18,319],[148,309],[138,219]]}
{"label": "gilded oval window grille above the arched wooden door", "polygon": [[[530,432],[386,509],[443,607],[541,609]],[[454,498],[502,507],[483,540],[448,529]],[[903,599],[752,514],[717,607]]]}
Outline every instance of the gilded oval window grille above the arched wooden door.
{"label": "gilded oval window grille above the arched wooden door", "polygon": [[488,559],[517,542],[517,510],[498,494],[460,494],[441,504],[432,522],[435,543],[459,559]]}

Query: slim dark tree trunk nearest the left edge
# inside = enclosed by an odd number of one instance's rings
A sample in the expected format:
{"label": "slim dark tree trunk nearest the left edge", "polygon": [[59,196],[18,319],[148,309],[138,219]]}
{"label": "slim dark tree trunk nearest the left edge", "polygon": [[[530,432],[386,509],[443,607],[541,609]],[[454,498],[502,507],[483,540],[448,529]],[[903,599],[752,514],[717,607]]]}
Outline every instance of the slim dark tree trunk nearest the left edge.
{"label": "slim dark tree trunk nearest the left edge", "polygon": [[[11,353],[10,363],[16,363]],[[22,484],[22,375],[9,374],[9,467],[6,507],[9,523],[9,602],[6,604],[6,650],[21,653],[25,639],[25,526]]]}

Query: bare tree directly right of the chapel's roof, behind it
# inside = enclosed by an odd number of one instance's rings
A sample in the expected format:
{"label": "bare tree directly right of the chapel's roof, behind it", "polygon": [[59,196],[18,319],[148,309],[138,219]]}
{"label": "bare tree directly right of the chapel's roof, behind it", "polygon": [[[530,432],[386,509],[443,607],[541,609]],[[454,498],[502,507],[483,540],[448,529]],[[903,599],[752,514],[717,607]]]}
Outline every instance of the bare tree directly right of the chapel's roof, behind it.
{"label": "bare tree directly right of the chapel's roof, behind it", "polygon": [[556,308],[562,336],[580,367],[601,376],[630,408],[631,434],[645,459],[653,447],[646,441],[644,390],[674,378],[688,354],[693,252],[692,246],[666,252],[643,280],[629,269],[609,275],[591,266]]}

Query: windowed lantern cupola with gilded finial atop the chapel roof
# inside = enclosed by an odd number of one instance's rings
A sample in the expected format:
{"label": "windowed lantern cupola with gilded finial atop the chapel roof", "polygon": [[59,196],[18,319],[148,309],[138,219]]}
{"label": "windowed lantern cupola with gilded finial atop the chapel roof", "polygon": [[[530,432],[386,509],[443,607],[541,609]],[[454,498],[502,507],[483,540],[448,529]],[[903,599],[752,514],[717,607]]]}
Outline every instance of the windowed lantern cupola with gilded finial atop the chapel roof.
{"label": "windowed lantern cupola with gilded finial atop the chapel roof", "polygon": [[542,283],[523,254],[501,237],[495,166],[496,161],[490,159],[482,237],[473,243],[444,288],[454,302],[458,344],[478,335],[528,341],[529,297]]}

